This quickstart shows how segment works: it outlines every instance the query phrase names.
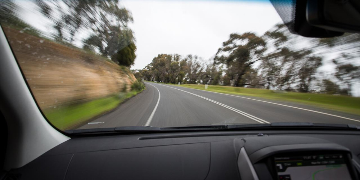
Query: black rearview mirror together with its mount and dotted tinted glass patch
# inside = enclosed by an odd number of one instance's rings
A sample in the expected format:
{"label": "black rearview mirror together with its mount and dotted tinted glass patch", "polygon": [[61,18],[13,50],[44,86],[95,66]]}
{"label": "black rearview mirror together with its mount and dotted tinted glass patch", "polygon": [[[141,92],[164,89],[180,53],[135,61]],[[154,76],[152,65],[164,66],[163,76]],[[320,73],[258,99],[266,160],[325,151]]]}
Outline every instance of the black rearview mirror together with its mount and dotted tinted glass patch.
{"label": "black rearview mirror together with its mount and dotted tinted glass patch", "polygon": [[289,31],[305,37],[360,33],[360,0],[270,0]]}

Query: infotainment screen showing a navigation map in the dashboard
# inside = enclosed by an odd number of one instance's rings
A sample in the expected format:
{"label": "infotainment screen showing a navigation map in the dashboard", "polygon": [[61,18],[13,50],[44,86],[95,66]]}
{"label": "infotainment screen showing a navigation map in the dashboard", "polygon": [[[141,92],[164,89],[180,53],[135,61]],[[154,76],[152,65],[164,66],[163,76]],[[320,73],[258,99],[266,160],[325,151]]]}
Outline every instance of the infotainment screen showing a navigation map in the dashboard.
{"label": "infotainment screen showing a navigation map in the dashboard", "polygon": [[275,156],[279,180],[351,180],[343,154]]}

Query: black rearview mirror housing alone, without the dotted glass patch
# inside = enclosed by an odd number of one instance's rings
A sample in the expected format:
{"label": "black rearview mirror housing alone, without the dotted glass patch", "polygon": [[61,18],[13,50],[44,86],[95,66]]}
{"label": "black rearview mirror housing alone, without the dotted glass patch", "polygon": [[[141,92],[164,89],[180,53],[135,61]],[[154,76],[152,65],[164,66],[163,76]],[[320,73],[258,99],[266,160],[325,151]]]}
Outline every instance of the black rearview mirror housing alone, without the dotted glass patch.
{"label": "black rearview mirror housing alone, without the dotted glass patch", "polygon": [[360,32],[359,0],[308,0],[306,20],[316,27],[339,32]]}

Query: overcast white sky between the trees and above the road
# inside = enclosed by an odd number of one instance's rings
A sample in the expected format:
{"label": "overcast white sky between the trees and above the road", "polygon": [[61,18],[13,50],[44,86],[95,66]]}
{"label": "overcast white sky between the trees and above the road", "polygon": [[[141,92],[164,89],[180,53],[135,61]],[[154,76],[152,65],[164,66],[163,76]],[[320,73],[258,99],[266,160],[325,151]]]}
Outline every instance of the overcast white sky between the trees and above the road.
{"label": "overcast white sky between the trees and above the road", "polygon": [[142,69],[158,54],[215,55],[230,33],[258,35],[282,22],[270,1],[123,0],[134,18],[135,65]]}

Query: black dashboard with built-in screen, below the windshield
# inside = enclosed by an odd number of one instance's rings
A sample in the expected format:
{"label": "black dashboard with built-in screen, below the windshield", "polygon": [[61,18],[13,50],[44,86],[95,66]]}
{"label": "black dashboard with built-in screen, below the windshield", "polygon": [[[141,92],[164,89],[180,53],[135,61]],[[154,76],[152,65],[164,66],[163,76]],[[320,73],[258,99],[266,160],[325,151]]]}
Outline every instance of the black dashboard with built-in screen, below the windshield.
{"label": "black dashboard with built-in screen, below the windshield", "polygon": [[77,137],[10,174],[67,180],[358,179],[359,135],[342,130],[257,130]]}

